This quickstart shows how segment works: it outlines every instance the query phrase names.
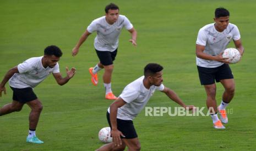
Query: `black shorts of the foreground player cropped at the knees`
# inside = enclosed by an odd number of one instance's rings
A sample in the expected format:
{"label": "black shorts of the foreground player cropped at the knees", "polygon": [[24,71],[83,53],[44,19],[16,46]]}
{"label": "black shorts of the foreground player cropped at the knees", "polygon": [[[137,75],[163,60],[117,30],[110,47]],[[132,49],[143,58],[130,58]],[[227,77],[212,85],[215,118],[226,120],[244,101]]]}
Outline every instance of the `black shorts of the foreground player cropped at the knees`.
{"label": "black shorts of the foreground player cropped at the knees", "polygon": [[[108,121],[108,124],[110,125],[110,128],[112,129],[111,123],[110,123],[110,113],[108,112],[107,112],[107,121]],[[138,137],[136,130],[133,126],[132,120],[117,119],[117,129],[121,131],[124,136],[126,136],[126,137],[121,136],[121,138],[132,139],[132,138]]]}

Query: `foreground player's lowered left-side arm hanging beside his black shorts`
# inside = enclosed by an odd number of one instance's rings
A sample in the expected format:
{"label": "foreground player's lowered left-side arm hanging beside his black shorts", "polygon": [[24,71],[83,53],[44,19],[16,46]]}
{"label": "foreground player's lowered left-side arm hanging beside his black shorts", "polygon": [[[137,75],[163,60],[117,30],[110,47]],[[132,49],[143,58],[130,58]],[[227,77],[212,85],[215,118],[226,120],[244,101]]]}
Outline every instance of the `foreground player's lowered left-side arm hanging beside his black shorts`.
{"label": "foreground player's lowered left-side arm hanging beside his black shorts", "polygon": [[122,107],[126,102],[123,101],[121,97],[118,97],[115,102],[110,105],[110,123],[111,123],[111,136],[113,138],[113,143],[115,146],[121,146],[121,137],[125,137],[121,131],[117,129],[117,109]]}

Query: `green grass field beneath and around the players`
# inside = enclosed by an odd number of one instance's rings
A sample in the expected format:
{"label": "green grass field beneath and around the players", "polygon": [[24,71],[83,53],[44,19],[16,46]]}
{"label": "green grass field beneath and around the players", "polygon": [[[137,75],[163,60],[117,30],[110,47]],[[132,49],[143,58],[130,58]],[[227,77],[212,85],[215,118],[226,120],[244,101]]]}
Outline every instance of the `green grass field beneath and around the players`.
{"label": "green grass field beneath and around the players", "polygon": [[[111,1],[0,1],[0,79],[9,68],[24,60],[41,56],[47,45],[63,51],[59,61],[77,68],[68,84],[58,86],[51,75],[35,88],[43,103],[36,134],[44,144],[28,144],[30,108],[0,117],[0,150],[95,150],[102,146],[97,133],[108,126],[106,109],[112,101],[104,99],[102,79],[90,83],[88,68],[98,61],[93,47],[96,33],[80,48],[71,51],[93,19],[105,15]],[[119,95],[124,86],[143,74],[146,63],[164,66],[164,84],[175,90],[186,104],[205,107],[205,91],[199,83],[195,65],[195,40],[199,28],[213,22],[214,10],[230,10],[230,22],[241,33],[246,52],[231,65],[236,94],[228,108],[225,130],[215,130],[210,117],[145,117],[143,110],[134,119],[141,150],[255,150],[256,129],[256,3],[255,1],[112,1],[138,32],[137,48],[128,42],[123,30],[112,76],[112,90]],[[233,47],[231,43],[230,47]],[[99,76],[102,76],[102,71]],[[12,90],[0,98],[0,107],[11,102]],[[217,102],[223,88],[217,84]],[[175,107],[161,92],[155,92],[148,107]]]}

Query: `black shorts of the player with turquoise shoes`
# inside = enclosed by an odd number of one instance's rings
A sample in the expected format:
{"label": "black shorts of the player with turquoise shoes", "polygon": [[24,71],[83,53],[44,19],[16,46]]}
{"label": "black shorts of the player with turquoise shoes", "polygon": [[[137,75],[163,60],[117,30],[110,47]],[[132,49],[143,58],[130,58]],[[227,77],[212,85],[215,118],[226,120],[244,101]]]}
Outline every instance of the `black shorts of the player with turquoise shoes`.
{"label": "black shorts of the player with turquoise shoes", "polygon": [[10,86],[10,88],[13,90],[13,100],[18,101],[20,103],[26,103],[29,101],[33,101],[37,99],[36,94],[32,90],[32,88],[13,88]]}

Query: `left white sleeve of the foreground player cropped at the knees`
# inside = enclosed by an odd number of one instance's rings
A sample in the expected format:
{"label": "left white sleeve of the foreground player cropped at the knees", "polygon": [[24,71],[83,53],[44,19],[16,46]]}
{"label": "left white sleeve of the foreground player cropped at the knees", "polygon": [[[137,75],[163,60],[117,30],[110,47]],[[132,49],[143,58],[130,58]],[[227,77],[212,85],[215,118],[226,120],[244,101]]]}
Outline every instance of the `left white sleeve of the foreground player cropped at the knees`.
{"label": "left white sleeve of the foreground player cropped at the knees", "polygon": [[119,97],[123,99],[124,102],[130,103],[139,96],[139,92],[128,87],[124,88],[123,92]]}

